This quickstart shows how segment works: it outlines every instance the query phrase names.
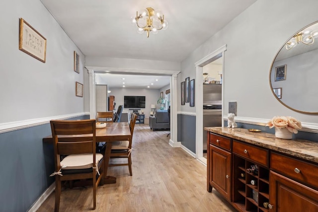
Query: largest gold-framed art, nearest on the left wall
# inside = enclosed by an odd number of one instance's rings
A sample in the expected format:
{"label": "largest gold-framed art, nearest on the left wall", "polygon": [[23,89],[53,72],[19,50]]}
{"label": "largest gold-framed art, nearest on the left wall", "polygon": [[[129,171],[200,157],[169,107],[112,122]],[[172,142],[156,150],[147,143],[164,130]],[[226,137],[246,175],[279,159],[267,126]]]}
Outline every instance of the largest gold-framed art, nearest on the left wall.
{"label": "largest gold-framed art, nearest on the left wall", "polygon": [[45,63],[46,38],[20,18],[19,50]]}

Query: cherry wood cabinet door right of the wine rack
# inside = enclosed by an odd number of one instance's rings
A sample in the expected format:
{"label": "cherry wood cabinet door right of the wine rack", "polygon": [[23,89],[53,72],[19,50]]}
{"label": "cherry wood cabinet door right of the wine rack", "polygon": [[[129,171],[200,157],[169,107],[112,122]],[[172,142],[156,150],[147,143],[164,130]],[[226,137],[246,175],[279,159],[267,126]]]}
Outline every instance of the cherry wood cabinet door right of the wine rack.
{"label": "cherry wood cabinet door right of the wine rack", "polygon": [[270,172],[270,212],[318,212],[318,191]]}

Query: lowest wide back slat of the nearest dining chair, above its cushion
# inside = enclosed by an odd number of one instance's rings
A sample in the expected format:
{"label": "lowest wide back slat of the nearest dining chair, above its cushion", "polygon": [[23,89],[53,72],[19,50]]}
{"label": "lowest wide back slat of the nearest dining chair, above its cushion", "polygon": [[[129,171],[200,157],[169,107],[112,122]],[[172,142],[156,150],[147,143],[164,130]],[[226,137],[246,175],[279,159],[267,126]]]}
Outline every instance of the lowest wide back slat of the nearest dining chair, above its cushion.
{"label": "lowest wide back slat of the nearest dining chair, above its cushion", "polygon": [[93,153],[93,141],[58,142],[57,153],[60,155]]}

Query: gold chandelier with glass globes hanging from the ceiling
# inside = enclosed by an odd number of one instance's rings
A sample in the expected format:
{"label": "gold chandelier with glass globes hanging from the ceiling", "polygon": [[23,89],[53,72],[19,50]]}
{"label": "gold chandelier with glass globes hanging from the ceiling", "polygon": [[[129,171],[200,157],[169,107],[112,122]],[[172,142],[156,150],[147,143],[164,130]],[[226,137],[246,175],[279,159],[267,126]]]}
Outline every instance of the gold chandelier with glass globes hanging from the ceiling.
{"label": "gold chandelier with glass globes hanging from the ceiling", "polygon": [[149,33],[158,34],[158,30],[165,30],[168,27],[168,22],[164,20],[164,15],[160,10],[154,10],[151,7],[147,7],[143,12],[136,14],[136,17],[132,18],[132,22],[137,24],[138,33],[142,34],[147,32],[147,38]]}

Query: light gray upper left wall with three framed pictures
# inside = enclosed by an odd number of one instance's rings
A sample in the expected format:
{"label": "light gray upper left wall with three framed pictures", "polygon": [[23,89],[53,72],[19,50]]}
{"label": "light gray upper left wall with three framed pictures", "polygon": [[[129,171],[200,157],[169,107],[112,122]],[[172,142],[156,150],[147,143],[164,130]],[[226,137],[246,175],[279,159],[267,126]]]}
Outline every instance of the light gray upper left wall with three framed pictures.
{"label": "light gray upper left wall with three framed pictures", "polygon": [[[46,63],[19,50],[19,18],[47,39]],[[0,123],[88,111],[85,57],[40,0],[1,0],[0,25]],[[84,84],[83,98],[75,95],[76,81]]]}

